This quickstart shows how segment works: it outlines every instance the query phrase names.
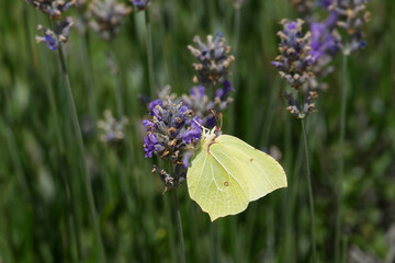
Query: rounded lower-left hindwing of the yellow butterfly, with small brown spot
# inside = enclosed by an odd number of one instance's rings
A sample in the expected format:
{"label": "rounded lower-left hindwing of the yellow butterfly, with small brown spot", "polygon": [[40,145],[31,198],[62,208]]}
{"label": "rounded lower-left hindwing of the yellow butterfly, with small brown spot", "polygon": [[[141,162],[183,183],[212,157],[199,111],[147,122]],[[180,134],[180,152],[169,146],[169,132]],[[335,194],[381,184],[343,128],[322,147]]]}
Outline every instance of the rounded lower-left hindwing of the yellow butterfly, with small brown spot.
{"label": "rounded lower-left hindwing of the yellow butterfly, with small brown spot", "polygon": [[[207,144],[195,152],[188,169],[188,191],[212,221],[245,210],[249,202],[248,182],[241,170],[221,152],[207,152]],[[213,145],[214,146],[214,145]],[[218,161],[216,158],[221,158]]]}

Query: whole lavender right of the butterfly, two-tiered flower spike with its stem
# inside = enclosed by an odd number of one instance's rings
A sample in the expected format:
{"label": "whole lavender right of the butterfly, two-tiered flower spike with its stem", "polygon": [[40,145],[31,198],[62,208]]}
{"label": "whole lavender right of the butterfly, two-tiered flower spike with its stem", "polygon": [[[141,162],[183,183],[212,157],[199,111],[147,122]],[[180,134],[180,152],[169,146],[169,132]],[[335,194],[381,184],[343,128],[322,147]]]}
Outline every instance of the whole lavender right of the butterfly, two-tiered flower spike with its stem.
{"label": "whole lavender right of the butterfly, two-tiered flower spike with its stem", "polygon": [[287,21],[282,20],[281,24],[283,30],[278,33],[281,42],[279,45],[280,55],[272,61],[275,66],[281,78],[284,78],[291,88],[298,93],[297,99],[293,93],[284,92],[284,96],[289,104],[287,110],[293,116],[301,119],[303,141],[305,149],[305,160],[307,170],[307,190],[308,190],[308,203],[311,210],[311,245],[313,262],[317,262],[316,255],[316,240],[315,240],[315,218],[314,218],[314,196],[312,188],[312,178],[309,171],[308,160],[308,146],[306,128],[304,118],[314,112],[313,100],[317,96],[315,91],[304,90],[303,85],[308,83],[308,80],[314,76],[312,71],[312,65],[315,61],[315,57],[311,54],[312,50],[312,34],[307,32],[303,34],[302,25],[303,20]]}

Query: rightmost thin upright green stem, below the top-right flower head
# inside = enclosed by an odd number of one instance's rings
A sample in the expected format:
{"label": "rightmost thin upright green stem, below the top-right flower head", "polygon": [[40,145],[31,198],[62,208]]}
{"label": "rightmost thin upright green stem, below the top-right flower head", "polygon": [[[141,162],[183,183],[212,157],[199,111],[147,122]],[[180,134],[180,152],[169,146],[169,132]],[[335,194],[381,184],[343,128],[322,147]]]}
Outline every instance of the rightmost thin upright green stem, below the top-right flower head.
{"label": "rightmost thin upright green stem, below the top-right flower head", "polygon": [[347,55],[342,59],[342,91],[341,91],[341,115],[340,115],[340,160],[339,173],[336,179],[336,232],[335,232],[335,262],[340,262],[340,232],[341,232],[341,202],[342,202],[342,184],[341,179],[345,175],[345,136],[346,136],[346,108],[347,108],[347,90],[348,90],[348,71],[347,71]]}

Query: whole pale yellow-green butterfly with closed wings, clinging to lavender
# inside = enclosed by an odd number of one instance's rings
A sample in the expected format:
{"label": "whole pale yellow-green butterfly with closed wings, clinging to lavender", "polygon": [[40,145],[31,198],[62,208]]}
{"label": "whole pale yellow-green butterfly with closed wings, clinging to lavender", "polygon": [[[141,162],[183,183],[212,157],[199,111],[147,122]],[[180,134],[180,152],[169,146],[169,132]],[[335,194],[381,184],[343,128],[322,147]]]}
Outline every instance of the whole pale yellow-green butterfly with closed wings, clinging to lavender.
{"label": "whole pale yellow-green butterfly with closed wings, clinging to lavender", "polygon": [[212,221],[244,211],[249,202],[286,187],[283,168],[245,141],[203,127],[187,173],[190,197]]}

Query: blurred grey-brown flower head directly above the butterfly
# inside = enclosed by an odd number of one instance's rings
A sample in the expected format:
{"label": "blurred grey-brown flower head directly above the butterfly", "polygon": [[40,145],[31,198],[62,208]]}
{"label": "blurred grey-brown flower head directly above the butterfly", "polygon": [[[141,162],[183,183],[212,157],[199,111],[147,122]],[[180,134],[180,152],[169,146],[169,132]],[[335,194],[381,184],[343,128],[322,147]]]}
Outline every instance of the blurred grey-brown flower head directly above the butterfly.
{"label": "blurred grey-brown flower head directly above the butterfly", "polygon": [[217,87],[222,84],[229,75],[228,68],[234,56],[228,56],[230,47],[226,46],[225,37],[217,34],[213,39],[212,35],[207,36],[207,44],[203,44],[199,36],[193,39],[198,48],[189,45],[188,48],[196,57],[199,64],[193,64],[198,75],[193,82],[201,83],[204,87]]}

